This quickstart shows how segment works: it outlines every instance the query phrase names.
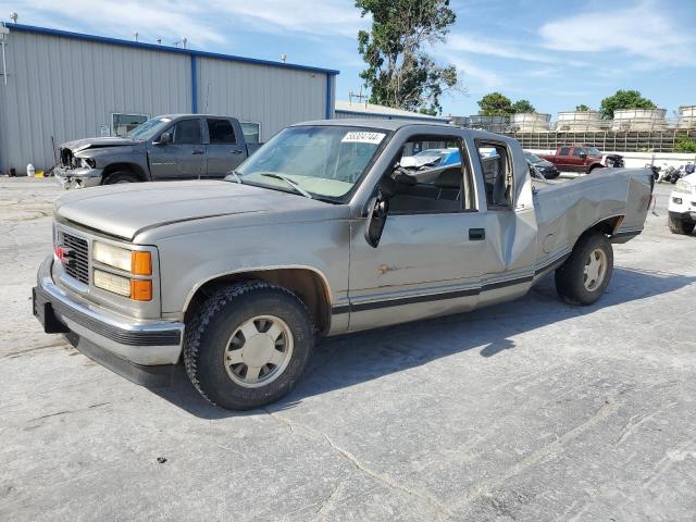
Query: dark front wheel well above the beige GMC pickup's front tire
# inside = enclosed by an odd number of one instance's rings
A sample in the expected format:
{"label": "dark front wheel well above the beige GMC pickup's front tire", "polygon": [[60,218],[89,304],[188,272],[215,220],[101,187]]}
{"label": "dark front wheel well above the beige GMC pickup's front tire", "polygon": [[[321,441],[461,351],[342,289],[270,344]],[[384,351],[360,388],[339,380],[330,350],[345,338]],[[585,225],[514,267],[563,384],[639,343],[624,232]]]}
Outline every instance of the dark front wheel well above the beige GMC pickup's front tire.
{"label": "dark front wheel well above the beige GMC pickup's front tire", "polygon": [[189,300],[186,308],[186,322],[216,289],[243,281],[265,281],[290,290],[307,306],[316,330],[321,333],[328,331],[331,326],[331,295],[323,277],[309,269],[257,270],[208,281],[196,290]]}

